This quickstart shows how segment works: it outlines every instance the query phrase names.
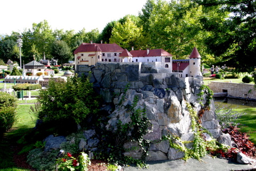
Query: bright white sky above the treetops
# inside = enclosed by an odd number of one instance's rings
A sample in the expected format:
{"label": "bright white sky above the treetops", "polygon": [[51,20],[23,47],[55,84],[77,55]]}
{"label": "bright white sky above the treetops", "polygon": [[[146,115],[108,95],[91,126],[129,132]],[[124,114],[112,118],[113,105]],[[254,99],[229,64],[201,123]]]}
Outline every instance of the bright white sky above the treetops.
{"label": "bright white sky above the treetops", "polygon": [[106,24],[127,14],[137,15],[147,0],[3,0],[0,2],[0,35],[31,29],[46,20],[52,30],[85,28],[101,32]]}

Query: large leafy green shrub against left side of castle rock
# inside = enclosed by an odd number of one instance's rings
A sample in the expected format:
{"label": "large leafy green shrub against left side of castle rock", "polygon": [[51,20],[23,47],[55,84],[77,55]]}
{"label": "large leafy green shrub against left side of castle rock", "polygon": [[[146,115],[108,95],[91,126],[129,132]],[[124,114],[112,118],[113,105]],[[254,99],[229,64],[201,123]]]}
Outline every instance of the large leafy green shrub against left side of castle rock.
{"label": "large leafy green shrub against left side of castle rock", "polygon": [[77,75],[67,81],[49,81],[49,87],[39,91],[41,112],[39,118],[44,121],[69,119],[81,123],[88,114],[98,111],[98,99],[89,79]]}

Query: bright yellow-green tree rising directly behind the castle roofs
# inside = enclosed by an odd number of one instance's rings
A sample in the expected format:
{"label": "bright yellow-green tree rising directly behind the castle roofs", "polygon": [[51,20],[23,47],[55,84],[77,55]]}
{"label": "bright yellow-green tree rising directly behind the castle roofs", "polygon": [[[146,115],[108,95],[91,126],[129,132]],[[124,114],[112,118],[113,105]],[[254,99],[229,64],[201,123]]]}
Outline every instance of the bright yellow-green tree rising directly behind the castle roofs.
{"label": "bright yellow-green tree rising directly behind the castle roofs", "polygon": [[137,27],[136,23],[128,16],[123,24],[121,22],[115,24],[109,42],[131,50],[132,46],[138,46],[139,40],[142,37],[141,33],[142,28]]}

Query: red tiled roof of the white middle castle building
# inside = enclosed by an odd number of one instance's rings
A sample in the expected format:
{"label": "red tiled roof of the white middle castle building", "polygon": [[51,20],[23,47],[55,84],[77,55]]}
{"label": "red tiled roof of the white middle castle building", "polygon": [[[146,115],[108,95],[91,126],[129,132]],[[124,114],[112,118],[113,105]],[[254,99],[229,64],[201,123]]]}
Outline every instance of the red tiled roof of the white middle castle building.
{"label": "red tiled roof of the white middle castle building", "polygon": [[147,54],[147,50],[132,50],[130,53],[133,57],[172,56],[163,49],[150,49],[149,54]]}

